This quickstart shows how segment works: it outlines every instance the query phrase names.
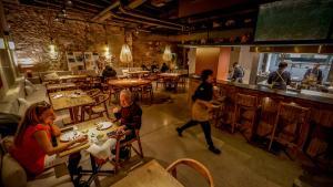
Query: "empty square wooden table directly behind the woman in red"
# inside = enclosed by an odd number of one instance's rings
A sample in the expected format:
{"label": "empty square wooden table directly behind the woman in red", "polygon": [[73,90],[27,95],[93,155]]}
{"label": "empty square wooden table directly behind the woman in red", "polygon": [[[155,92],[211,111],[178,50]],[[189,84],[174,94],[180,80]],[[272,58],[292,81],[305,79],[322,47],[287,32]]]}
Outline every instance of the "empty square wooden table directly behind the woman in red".
{"label": "empty square wooden table directly behind the woman in red", "polygon": [[[80,93],[80,96],[72,97],[71,95],[74,93]],[[56,95],[62,94],[61,97],[54,98]],[[49,94],[50,102],[54,111],[65,110],[70,111],[70,116],[73,123],[78,122],[77,112],[79,111],[79,106],[89,105],[94,103],[94,100],[87,95],[81,90],[72,90],[72,91],[60,91]]]}

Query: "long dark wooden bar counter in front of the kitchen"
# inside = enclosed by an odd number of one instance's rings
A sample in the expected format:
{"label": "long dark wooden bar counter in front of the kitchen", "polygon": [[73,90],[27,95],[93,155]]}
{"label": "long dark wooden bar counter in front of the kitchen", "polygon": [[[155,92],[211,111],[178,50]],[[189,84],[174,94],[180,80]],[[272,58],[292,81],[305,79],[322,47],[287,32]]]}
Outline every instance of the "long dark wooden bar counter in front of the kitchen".
{"label": "long dark wooden bar counter in front of the kitchen", "polygon": [[[200,84],[200,80],[195,77],[190,79],[189,89],[189,103],[191,103],[191,96],[195,89]],[[216,81],[219,93],[221,96],[225,96],[223,103],[223,117],[219,121],[222,125],[231,125],[234,116],[235,98],[236,94],[245,94],[258,97],[258,105],[260,108],[259,120],[255,125],[254,134],[269,137],[272,126],[274,126],[278,115],[279,103],[294,103],[302,107],[310,108],[307,131],[304,134],[304,152],[310,156],[316,156],[322,153],[324,148],[327,148],[329,132],[333,129],[333,96],[332,94],[302,91],[278,91],[271,90],[261,85],[249,85],[241,83],[231,83],[229,81]],[[323,136],[323,134],[325,134]]]}

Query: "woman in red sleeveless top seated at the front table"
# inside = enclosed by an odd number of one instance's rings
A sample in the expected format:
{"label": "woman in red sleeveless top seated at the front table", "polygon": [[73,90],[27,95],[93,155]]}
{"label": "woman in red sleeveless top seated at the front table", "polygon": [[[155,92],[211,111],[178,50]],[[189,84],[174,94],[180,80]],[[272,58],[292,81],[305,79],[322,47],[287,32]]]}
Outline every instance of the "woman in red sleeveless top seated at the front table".
{"label": "woman in red sleeveless top seated at the front table", "polygon": [[75,143],[87,141],[87,136],[82,136],[53,147],[51,135],[59,136],[61,134],[59,127],[53,124],[54,120],[56,114],[51,105],[40,102],[32,104],[27,110],[24,118],[18,127],[11,155],[29,174],[41,174],[46,168],[59,163],[56,154]]}

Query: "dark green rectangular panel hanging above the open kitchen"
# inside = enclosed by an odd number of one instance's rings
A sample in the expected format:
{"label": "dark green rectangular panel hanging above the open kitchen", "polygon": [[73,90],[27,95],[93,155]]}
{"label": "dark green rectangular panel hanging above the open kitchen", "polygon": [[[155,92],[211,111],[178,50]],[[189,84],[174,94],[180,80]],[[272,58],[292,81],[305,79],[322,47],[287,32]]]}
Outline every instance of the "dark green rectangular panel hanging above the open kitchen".
{"label": "dark green rectangular panel hanging above the open kitchen", "polygon": [[332,38],[333,0],[283,0],[262,4],[255,41],[302,41]]}

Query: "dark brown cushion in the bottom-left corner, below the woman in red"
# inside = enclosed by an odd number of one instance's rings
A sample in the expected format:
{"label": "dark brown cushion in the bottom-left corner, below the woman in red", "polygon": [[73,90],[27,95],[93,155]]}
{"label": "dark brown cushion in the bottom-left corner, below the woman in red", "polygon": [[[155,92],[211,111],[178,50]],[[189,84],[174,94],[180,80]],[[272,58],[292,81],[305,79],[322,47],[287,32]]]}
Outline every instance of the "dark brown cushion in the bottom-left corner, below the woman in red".
{"label": "dark brown cushion in the bottom-left corner, below the woman in red", "polygon": [[2,185],[6,187],[26,187],[27,174],[22,166],[9,154],[2,159]]}

